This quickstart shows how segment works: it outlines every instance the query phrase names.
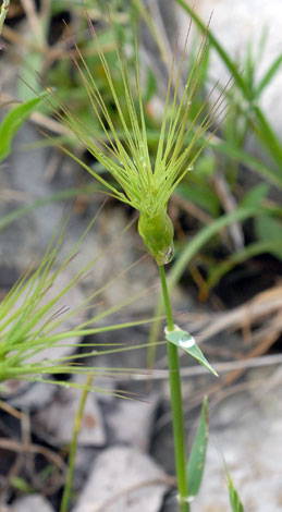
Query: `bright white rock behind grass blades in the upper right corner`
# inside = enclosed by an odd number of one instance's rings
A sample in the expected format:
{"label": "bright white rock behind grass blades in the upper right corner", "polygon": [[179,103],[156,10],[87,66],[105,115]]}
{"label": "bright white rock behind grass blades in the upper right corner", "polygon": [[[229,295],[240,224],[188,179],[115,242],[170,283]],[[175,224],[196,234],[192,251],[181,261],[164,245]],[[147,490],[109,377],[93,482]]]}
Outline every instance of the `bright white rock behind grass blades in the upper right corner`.
{"label": "bright white rock behind grass blades in the upper right corner", "polygon": [[[282,2],[281,0],[198,0],[194,2],[197,14],[208,23],[212,12],[210,28],[224,50],[233,60],[240,62],[244,70],[248,44],[254,54],[258,53],[259,41],[263,31],[268,31],[265,51],[259,58],[257,66],[257,81],[262,77],[273,60],[281,54],[282,48]],[[186,34],[188,15],[184,15],[183,9],[177,9],[177,19],[181,32]],[[210,74],[213,80],[226,83],[230,72],[226,70],[218,53],[210,53]],[[265,93],[259,99],[259,105],[267,114],[270,123],[281,133],[282,103],[280,100],[282,88],[282,66],[271,80]]]}

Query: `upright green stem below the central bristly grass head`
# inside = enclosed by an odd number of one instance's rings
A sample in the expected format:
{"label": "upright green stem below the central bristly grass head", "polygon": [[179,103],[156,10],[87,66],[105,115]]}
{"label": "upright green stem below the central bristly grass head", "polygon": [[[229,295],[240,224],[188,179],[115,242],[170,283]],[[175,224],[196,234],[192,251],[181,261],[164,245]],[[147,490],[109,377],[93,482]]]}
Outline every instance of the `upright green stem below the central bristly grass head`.
{"label": "upright green stem below the central bristly grass head", "polygon": [[[164,268],[159,266],[162,296],[165,307],[168,330],[174,329],[172,309],[170,305],[170,297],[168,292],[167,279]],[[172,411],[172,426],[173,426],[173,440],[174,440],[174,456],[179,488],[180,512],[189,512],[189,503],[186,501],[188,496],[186,484],[186,455],[185,455],[185,436],[184,436],[184,422],[182,410],[182,393],[181,393],[181,376],[180,376],[180,359],[177,348],[168,342],[168,361],[170,370],[170,392],[171,392],[171,411]]]}

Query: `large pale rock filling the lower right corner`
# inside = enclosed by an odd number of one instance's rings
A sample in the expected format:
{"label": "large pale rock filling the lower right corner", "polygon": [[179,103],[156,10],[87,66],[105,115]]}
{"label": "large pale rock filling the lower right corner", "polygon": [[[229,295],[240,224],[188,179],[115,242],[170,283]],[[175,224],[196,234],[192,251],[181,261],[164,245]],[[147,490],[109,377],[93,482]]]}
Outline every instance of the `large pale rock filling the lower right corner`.
{"label": "large pale rock filling the lower right corner", "polygon": [[[271,404],[271,405],[270,405]],[[282,401],[281,388],[262,402],[238,394],[217,409],[217,431],[211,427],[203,487],[193,503],[193,512],[230,510],[222,455],[244,510],[282,510]]]}

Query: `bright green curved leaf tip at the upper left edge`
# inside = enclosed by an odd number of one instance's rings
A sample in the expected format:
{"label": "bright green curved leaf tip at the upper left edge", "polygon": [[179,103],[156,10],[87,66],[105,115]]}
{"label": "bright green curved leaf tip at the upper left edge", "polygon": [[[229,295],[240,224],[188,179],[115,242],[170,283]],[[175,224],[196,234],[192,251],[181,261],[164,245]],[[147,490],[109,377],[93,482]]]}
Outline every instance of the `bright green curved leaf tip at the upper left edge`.
{"label": "bright green curved leaf tip at the upper left edge", "polygon": [[11,153],[13,137],[24,121],[29,118],[42,96],[33,98],[25,103],[14,107],[4,118],[0,125],[0,161],[7,158]]}

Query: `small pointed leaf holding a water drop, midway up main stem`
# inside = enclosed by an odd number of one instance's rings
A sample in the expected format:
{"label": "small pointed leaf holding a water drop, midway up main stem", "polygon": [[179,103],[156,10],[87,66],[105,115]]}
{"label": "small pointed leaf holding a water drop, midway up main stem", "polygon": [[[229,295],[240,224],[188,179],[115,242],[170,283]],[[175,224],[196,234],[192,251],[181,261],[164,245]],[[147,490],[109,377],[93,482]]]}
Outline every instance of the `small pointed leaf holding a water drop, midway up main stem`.
{"label": "small pointed leaf holding a water drop, midway up main stem", "polygon": [[210,366],[201,350],[196,345],[195,339],[187,331],[183,331],[177,326],[174,326],[173,331],[165,329],[165,340],[187,352],[187,354],[192,355],[200,365],[206,366],[212,375],[218,377],[217,371]]}

